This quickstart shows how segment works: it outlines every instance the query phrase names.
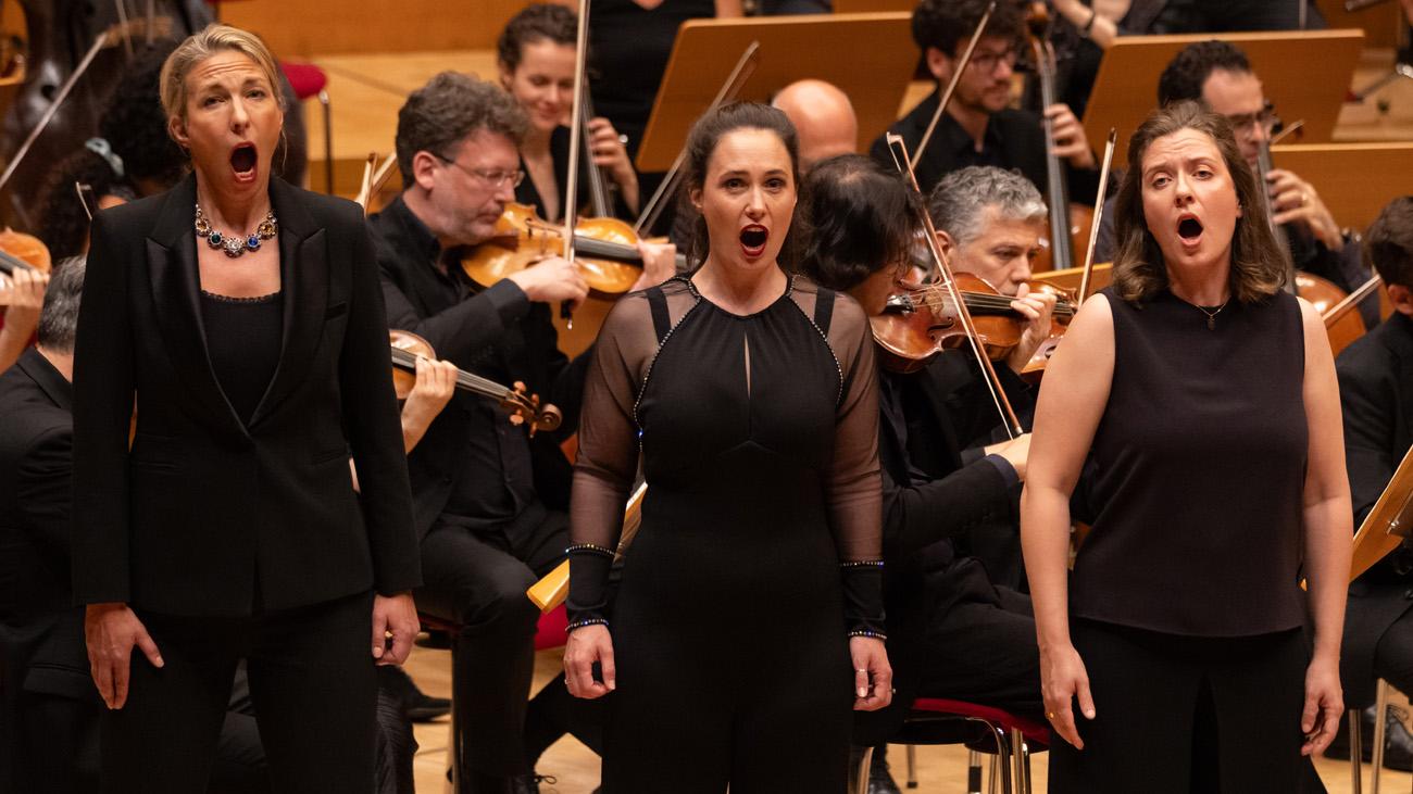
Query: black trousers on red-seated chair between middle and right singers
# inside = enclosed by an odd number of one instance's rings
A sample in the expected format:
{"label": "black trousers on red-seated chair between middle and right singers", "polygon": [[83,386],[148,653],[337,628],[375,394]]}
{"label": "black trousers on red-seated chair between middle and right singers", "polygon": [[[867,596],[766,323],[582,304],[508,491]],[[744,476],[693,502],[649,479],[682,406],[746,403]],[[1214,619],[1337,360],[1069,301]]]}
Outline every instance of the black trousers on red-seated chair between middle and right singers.
{"label": "black trousers on red-seated chair between middle and right singers", "polygon": [[933,576],[918,694],[1040,715],[1040,648],[1030,596],[992,585],[986,567],[969,557]]}

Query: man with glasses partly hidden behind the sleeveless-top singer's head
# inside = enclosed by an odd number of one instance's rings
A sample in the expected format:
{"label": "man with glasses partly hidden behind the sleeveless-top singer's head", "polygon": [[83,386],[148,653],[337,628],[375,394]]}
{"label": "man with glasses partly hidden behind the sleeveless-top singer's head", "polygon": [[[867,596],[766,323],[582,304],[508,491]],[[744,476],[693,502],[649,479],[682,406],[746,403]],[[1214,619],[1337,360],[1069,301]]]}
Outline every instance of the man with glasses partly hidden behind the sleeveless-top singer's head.
{"label": "man with glasses partly hidden behind the sleeveless-top singer's head", "polygon": [[[1184,47],[1163,69],[1157,83],[1159,105],[1178,99],[1201,99],[1232,123],[1246,162],[1256,168],[1260,146],[1270,141],[1276,114],[1266,100],[1260,79],[1239,47],[1226,41],[1198,41]],[[1284,225],[1296,267],[1332,281],[1349,292],[1369,278],[1359,261],[1359,243],[1347,239],[1314,185],[1297,174],[1273,168],[1265,174],[1276,223]],[[1112,261],[1113,201],[1105,205],[1099,222],[1095,261]],[[1364,324],[1379,322],[1378,298],[1359,305]]]}

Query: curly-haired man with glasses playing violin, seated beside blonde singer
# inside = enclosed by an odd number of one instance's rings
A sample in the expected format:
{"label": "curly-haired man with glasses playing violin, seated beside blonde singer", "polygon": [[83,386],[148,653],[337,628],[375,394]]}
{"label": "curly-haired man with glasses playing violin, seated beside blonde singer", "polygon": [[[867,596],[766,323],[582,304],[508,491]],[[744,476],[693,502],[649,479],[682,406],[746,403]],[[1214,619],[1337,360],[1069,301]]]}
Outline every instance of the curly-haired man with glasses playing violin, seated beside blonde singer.
{"label": "curly-haired man with glasses playing violin, seated beside blonde singer", "polygon": [[[564,413],[569,434],[589,356],[571,362],[558,350],[552,311],[585,298],[584,278],[550,257],[480,288],[461,267],[514,199],[527,129],[499,88],[456,72],[434,76],[398,112],[403,194],[369,226],[389,324],[462,370],[524,381]],[[671,246],[643,253],[646,273],[673,273]],[[558,441],[528,438],[495,400],[458,391],[407,458],[425,582],[417,605],[459,626],[452,708],[463,794],[538,790],[524,728],[540,610],[526,589],[569,545],[571,470]]]}

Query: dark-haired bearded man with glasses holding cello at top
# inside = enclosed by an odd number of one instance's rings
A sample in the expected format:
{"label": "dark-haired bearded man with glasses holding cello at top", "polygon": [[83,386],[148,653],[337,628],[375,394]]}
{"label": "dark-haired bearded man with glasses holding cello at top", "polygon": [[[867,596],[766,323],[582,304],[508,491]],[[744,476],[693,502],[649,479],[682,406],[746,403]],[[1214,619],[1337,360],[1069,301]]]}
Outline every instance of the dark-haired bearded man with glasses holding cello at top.
{"label": "dark-haired bearded man with glasses holding cello at top", "polygon": [[[923,0],[913,11],[913,40],[923,51],[938,90],[889,127],[889,133],[903,137],[909,154],[916,153],[921,143],[941,102],[941,90],[961,64],[966,42],[988,4],[989,0]],[[1020,10],[1015,3],[998,3],[957,82],[947,112],[917,162],[917,182],[924,192],[947,174],[968,165],[1016,168],[1041,194],[1046,191],[1044,119],[1009,106],[1016,48],[1023,38]],[[1067,161],[1071,201],[1092,202],[1099,174],[1084,127],[1065,105],[1051,105],[1044,114],[1053,124],[1056,154]],[[893,168],[886,136],[873,141],[869,157]]]}

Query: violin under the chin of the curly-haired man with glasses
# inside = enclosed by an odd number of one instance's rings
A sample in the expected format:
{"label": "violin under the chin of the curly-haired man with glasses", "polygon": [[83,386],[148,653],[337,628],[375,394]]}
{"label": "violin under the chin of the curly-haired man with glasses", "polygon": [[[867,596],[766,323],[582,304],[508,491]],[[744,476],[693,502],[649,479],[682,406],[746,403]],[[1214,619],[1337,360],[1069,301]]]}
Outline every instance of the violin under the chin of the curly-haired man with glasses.
{"label": "violin under the chin of the curly-haired man with glasses", "polygon": [[[586,256],[575,256],[574,263],[589,284],[589,295],[615,301],[637,283],[643,254],[636,243],[633,227],[613,218],[575,225],[572,246]],[[490,287],[552,256],[565,256],[564,227],[543,220],[533,206],[510,202],[496,222],[496,235],[473,247],[461,267],[472,281]]]}

